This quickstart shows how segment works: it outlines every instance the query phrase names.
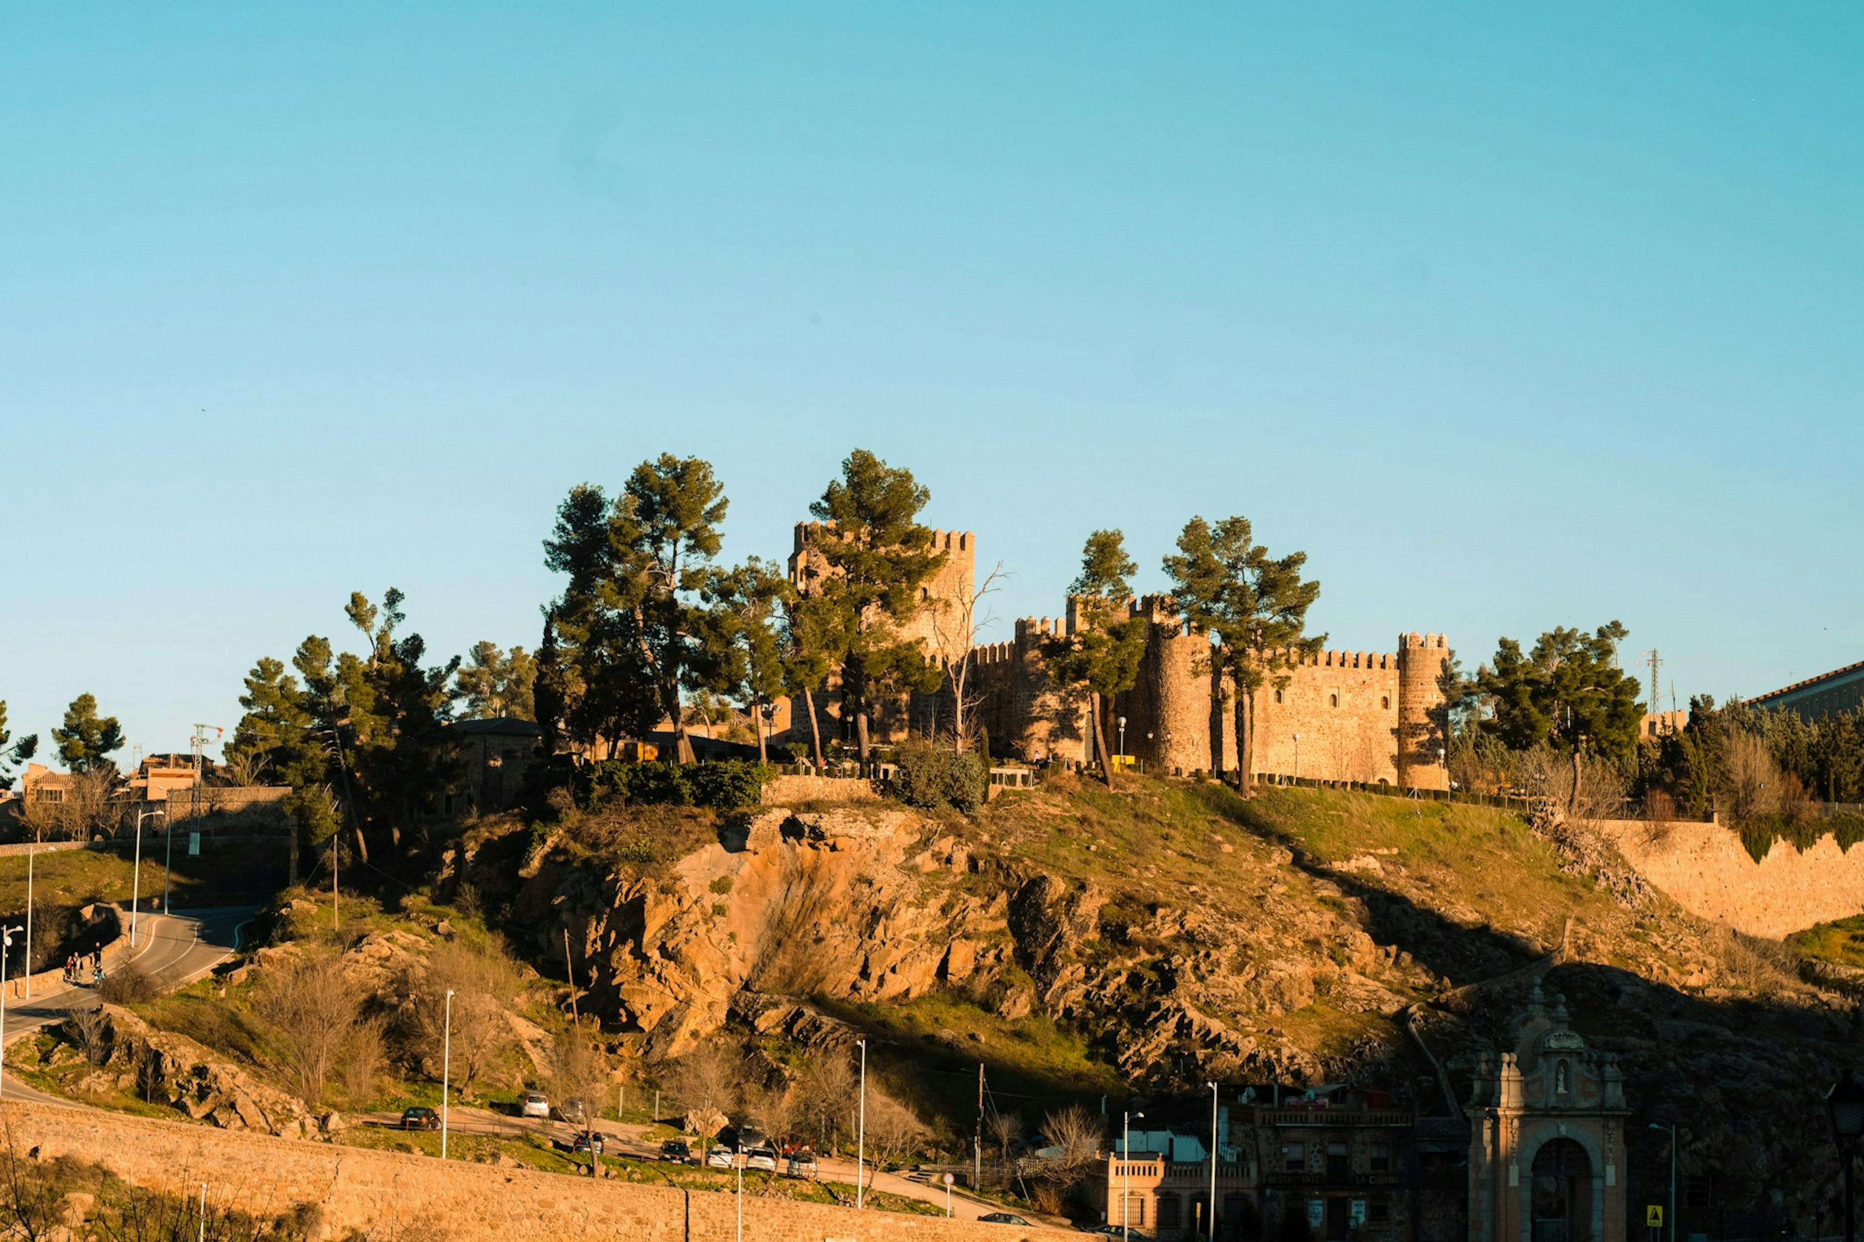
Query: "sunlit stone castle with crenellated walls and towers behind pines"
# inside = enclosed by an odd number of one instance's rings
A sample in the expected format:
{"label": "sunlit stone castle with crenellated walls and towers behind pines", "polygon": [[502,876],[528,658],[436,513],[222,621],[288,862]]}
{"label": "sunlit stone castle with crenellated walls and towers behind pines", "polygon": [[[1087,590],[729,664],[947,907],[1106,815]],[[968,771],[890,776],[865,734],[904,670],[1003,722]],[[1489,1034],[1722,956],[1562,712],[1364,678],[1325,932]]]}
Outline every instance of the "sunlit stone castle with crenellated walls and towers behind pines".
{"label": "sunlit stone castle with crenellated walls and towers behind pines", "polygon": [[[815,546],[824,538],[818,523],[798,523],[790,553],[790,581],[809,590],[824,572]],[[904,626],[928,657],[951,665],[962,652],[943,650],[951,611],[969,600],[977,568],[977,536],[969,531],[934,531],[934,547],[945,562],[921,588],[921,607]],[[1146,652],[1133,689],[1118,695],[1113,717],[1124,721],[1109,750],[1137,758],[1148,771],[1171,775],[1234,773],[1236,715],[1227,678],[1210,670],[1210,639],[1178,614],[1169,596],[1143,596],[1130,605],[1146,618]],[[947,624],[938,624],[939,618]],[[1044,644],[1077,633],[1074,601],[1057,618],[1025,616],[1014,637],[967,652],[966,702],[975,721],[990,732],[992,750],[1025,762],[1092,760],[1087,696],[1055,685],[1048,676]],[[1320,652],[1290,657],[1256,695],[1254,771],[1269,776],[1355,780],[1417,790],[1446,790],[1441,721],[1443,693],[1437,678],[1448,644],[1441,633],[1405,633],[1396,652]],[[1275,685],[1275,682],[1284,682]],[[900,737],[908,730],[936,732],[953,715],[953,680],[939,695],[915,695],[880,711],[874,736]],[[846,737],[833,693],[816,695],[824,741]],[[774,732],[783,741],[807,741],[807,715],[800,702],[779,708]]]}

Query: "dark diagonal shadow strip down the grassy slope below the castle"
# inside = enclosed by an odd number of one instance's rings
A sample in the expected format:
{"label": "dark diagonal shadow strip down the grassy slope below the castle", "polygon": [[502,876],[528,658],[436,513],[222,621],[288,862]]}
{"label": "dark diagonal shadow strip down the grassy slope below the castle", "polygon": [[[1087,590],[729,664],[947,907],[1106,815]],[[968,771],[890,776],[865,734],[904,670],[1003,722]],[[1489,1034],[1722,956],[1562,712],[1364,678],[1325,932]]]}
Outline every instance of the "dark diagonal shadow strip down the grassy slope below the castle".
{"label": "dark diagonal shadow strip down the grassy slope below the castle", "polygon": [[1487,924],[1474,927],[1458,924],[1359,871],[1327,866],[1294,834],[1268,823],[1249,803],[1225,786],[1199,786],[1199,799],[1212,814],[1228,819],[1251,836],[1286,849],[1295,870],[1357,898],[1366,909],[1366,935],[1377,944],[1409,953],[1419,965],[1437,978],[1448,979],[1454,987],[1517,970],[1547,952],[1543,946]]}

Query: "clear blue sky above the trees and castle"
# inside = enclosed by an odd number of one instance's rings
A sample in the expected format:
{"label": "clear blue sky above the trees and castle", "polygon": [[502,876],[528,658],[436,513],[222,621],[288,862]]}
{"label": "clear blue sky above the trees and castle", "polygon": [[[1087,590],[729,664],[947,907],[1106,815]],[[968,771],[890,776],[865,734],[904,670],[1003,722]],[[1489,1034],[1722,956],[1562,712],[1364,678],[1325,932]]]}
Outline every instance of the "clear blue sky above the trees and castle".
{"label": "clear blue sky above the trees and castle", "polygon": [[1860,63],[1849,2],[6,6],[0,698],[185,747],[390,585],[535,646],[570,484],[703,454],[781,557],[856,445],[1003,618],[1240,512],[1335,646],[1864,659]]}

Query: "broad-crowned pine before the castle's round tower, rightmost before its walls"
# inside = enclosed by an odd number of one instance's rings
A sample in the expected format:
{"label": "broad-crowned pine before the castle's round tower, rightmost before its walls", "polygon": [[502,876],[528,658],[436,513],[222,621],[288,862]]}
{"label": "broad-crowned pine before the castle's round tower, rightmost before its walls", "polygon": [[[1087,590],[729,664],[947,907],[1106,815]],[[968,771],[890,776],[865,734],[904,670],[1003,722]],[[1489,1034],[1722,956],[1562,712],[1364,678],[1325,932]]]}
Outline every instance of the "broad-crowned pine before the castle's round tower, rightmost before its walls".
{"label": "broad-crowned pine before the castle's round tower, rightmost before its walls", "polygon": [[1215,527],[1193,518],[1178,534],[1178,553],[1165,557],[1178,607],[1210,635],[1212,659],[1230,678],[1243,797],[1254,776],[1256,691],[1269,680],[1286,683],[1290,657],[1309,657],[1327,641],[1303,637],[1307,611],[1320,598],[1320,583],[1301,579],[1305,564],[1305,551],[1269,557],[1247,518],[1225,518]]}

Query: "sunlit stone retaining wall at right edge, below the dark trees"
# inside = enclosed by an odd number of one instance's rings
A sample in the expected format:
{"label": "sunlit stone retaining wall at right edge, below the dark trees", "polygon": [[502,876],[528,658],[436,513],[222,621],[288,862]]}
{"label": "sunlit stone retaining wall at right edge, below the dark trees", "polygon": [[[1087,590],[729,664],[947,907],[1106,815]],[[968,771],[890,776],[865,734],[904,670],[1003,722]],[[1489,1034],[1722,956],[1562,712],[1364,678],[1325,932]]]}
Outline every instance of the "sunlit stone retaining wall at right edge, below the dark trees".
{"label": "sunlit stone retaining wall at right edge, below the dark trees", "polygon": [[1754,862],[1741,838],[1715,823],[1597,825],[1638,873],[1691,914],[1754,937],[1786,937],[1864,911],[1864,849],[1821,836],[1801,853],[1775,842]]}

